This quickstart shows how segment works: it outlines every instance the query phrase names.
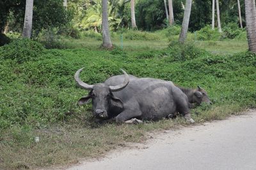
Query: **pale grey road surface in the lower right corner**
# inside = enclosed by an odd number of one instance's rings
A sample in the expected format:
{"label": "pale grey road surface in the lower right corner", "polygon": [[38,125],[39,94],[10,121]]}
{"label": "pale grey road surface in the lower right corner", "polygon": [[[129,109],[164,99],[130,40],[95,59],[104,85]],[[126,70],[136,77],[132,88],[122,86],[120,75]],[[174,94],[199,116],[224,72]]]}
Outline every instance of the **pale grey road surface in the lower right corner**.
{"label": "pale grey road surface in the lower right corner", "polygon": [[256,169],[256,111],[165,131],[137,148],[65,169]]}

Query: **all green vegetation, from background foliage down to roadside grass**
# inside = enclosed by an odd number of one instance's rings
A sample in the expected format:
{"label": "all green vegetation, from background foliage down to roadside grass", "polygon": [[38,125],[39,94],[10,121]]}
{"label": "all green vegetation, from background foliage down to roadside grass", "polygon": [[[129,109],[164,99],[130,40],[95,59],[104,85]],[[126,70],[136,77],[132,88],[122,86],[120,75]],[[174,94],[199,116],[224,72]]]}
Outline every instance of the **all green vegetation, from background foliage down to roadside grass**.
{"label": "all green vegetation, from background foliage down to roadside grass", "polygon": [[[239,29],[236,1],[220,2],[223,32],[212,30],[211,0],[193,1],[187,42],[177,41],[184,1],[173,0],[175,25],[164,4],[136,1],[137,30],[129,1],[109,1],[113,50],[102,43],[101,1],[35,1],[33,39],[20,38],[25,1],[0,2],[0,169],[71,164],[140,142],[147,133],[187,125],[183,118],[139,125],[99,125],[91,104],[77,106],[88,92],[74,81],[77,69],[90,84],[120,74],[200,85],[213,104],[191,110],[196,123],[220,120],[256,107],[256,55]],[[241,3],[242,15],[244,6]],[[61,17],[60,17],[61,16]],[[38,136],[39,143],[34,139]]]}

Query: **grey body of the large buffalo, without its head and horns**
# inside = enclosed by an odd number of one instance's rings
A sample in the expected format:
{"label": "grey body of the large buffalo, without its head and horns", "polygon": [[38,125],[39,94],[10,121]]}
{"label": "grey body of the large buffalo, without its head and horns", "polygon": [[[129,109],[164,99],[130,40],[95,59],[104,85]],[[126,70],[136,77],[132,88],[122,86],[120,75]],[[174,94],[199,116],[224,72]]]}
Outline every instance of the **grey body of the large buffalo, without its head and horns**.
{"label": "grey body of the large buffalo, without its head and horns", "polygon": [[[113,76],[105,84],[116,85],[124,76]],[[188,97],[172,81],[155,78],[137,78],[129,75],[129,84],[120,92],[113,93],[125,103],[124,113],[116,117],[118,121],[139,118],[141,120],[159,120],[174,113],[181,113],[186,119],[190,117]],[[119,120],[120,119],[120,120]]]}

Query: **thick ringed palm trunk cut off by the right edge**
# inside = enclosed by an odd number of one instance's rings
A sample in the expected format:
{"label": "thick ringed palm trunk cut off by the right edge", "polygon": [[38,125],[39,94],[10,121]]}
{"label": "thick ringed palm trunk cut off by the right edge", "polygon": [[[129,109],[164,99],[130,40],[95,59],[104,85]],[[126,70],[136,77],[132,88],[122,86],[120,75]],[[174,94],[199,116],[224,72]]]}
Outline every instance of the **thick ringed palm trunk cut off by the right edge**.
{"label": "thick ringed palm trunk cut off by the right edge", "polygon": [[246,32],[249,50],[256,53],[256,7],[255,0],[244,0]]}

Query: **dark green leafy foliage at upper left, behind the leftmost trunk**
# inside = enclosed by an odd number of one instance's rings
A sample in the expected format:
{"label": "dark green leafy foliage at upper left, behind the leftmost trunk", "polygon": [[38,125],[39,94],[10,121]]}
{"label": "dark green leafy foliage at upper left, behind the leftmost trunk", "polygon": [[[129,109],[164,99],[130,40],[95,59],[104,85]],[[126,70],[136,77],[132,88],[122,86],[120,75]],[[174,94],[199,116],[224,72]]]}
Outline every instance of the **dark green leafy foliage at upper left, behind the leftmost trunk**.
{"label": "dark green leafy foliage at upper left, behind the leftmost trunk", "polygon": [[[9,31],[22,32],[26,0],[0,2],[0,30],[8,22]],[[60,17],[61,16],[61,17]],[[33,33],[35,36],[42,29],[62,27],[70,22],[72,12],[63,7],[62,0],[34,1]]]}

